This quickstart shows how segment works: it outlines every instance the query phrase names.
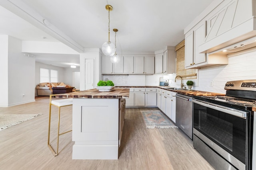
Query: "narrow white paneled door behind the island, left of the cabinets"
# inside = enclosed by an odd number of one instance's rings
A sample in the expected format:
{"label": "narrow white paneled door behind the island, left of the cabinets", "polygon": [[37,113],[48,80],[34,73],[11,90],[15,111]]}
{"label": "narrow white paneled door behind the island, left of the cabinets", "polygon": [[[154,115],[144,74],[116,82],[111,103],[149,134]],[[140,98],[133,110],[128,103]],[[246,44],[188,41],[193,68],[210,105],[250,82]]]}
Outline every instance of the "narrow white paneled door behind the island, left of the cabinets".
{"label": "narrow white paneled door behind the island, left of the cabinets", "polygon": [[85,59],[85,90],[94,88],[94,59]]}

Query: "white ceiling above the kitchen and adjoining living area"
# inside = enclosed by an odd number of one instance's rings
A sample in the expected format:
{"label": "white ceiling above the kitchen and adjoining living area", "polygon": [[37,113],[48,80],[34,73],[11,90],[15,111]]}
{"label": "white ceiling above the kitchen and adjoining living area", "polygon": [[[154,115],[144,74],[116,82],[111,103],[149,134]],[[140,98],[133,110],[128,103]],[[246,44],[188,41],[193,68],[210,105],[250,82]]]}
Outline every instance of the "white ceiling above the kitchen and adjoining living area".
{"label": "white ceiling above the kitchen and adjoining living area", "polygon": [[[154,53],[165,46],[180,43],[184,39],[184,28],[212,2],[213,0],[1,0],[0,35],[10,35],[26,41],[61,41],[70,46],[66,43],[66,39],[69,39],[83,48],[101,48],[108,41],[108,11],[105,6],[110,4],[113,7],[110,11],[110,41],[115,42],[112,30],[117,28],[117,53]],[[33,18],[26,17],[16,7]],[[57,35],[56,31],[52,33],[34,22],[38,16],[53,25],[59,31]],[[58,35],[63,35],[64,39],[58,38]],[[34,55],[40,63],[58,64],[62,67],[70,67],[66,63],[73,62],[79,65],[79,55]]]}

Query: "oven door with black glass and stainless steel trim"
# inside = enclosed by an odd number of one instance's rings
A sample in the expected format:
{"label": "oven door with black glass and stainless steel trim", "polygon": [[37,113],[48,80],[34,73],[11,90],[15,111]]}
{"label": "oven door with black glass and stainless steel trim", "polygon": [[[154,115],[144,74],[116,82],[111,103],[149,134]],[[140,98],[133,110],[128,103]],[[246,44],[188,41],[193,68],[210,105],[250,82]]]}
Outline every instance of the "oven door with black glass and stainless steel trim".
{"label": "oven door with black glass and stainless steel trim", "polygon": [[234,166],[245,168],[248,157],[246,155],[248,141],[246,117],[250,115],[249,112],[195,99],[193,103],[193,128],[196,129],[194,135]]}

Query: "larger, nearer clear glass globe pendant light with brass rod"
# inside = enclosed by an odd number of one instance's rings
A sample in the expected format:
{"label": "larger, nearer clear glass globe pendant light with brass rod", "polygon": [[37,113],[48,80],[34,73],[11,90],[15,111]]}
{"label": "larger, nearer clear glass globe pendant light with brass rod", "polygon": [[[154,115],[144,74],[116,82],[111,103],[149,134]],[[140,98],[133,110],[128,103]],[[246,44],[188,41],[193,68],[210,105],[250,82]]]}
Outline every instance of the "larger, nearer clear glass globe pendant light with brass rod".
{"label": "larger, nearer clear glass globe pendant light with brass rod", "polygon": [[108,10],[108,42],[104,43],[102,45],[102,52],[104,53],[104,55],[106,56],[111,56],[114,55],[116,49],[113,43],[110,42],[109,40],[109,35],[110,35],[110,11],[113,10],[113,7],[111,5],[106,5],[106,10]]}

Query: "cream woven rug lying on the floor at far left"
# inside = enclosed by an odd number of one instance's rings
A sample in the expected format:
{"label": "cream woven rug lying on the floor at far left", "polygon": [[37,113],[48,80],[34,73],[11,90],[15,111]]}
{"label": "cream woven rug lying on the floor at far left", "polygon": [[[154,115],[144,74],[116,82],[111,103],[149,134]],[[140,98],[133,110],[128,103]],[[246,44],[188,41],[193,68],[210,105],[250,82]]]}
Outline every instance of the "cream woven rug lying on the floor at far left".
{"label": "cream woven rug lying on the floor at far left", "polygon": [[35,117],[38,117],[42,114],[37,115],[23,115],[23,114],[16,114],[16,115],[0,115],[0,131],[7,129],[9,127],[12,127],[14,125],[18,125],[24,121],[33,119]]}

